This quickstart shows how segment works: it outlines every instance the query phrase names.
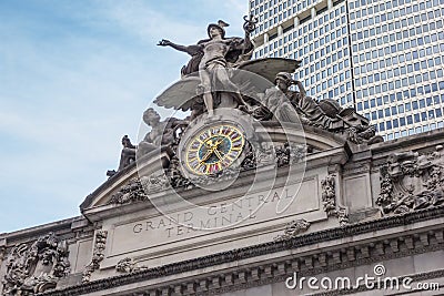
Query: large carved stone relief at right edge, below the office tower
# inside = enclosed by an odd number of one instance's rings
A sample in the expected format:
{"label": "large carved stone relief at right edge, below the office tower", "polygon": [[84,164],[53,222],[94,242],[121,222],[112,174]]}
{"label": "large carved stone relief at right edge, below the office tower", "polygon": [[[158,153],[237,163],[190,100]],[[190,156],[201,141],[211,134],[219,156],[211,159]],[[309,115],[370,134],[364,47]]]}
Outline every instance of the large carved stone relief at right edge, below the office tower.
{"label": "large carved stone relief at right edge, below the office tower", "polygon": [[431,154],[394,153],[381,167],[376,204],[384,214],[404,214],[444,203],[443,146]]}

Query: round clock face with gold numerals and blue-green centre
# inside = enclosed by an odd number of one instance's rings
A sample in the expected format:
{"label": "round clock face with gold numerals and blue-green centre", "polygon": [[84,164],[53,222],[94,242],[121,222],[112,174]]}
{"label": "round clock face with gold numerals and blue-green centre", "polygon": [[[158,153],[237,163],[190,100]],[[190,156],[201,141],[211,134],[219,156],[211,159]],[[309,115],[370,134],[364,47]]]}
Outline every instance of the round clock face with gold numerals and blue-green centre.
{"label": "round clock face with gold numerals and blue-green centre", "polygon": [[241,155],[245,137],[231,124],[219,124],[194,135],[185,149],[186,169],[198,175],[221,172]]}

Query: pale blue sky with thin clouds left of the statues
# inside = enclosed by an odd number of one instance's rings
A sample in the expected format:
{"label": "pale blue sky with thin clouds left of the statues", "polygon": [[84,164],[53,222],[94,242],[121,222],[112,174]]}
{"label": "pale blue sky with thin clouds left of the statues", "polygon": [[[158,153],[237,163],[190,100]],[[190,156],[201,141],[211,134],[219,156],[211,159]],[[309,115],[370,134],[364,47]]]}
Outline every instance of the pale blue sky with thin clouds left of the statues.
{"label": "pale blue sky with thin clouds left of the statues", "polygon": [[246,0],[0,1],[0,233],[80,215],[135,142],[141,115],[223,19],[242,35]]}

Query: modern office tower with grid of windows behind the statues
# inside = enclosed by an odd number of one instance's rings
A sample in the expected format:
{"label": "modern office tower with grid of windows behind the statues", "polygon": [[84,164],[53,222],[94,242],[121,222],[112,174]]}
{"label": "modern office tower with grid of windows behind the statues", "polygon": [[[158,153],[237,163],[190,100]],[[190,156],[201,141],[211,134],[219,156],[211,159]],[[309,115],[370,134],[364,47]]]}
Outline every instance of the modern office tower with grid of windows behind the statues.
{"label": "modern office tower with grid of windows behind the statues", "polygon": [[302,60],[317,100],[355,106],[386,140],[443,127],[444,0],[252,0],[255,58]]}

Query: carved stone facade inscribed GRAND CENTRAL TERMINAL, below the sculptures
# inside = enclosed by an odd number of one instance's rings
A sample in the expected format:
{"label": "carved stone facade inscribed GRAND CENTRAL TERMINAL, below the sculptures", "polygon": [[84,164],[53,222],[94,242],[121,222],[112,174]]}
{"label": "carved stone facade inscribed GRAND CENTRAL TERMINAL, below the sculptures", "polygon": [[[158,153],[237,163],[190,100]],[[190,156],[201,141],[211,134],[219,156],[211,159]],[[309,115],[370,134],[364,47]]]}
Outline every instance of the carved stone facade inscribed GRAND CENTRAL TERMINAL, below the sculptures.
{"label": "carved stone facade inscribed GRAND CENTRAL TERMINAL, below the sculptures", "polygon": [[[168,176],[162,181],[155,172],[151,178],[118,172],[82,204],[83,218],[0,236],[1,294],[236,295],[254,287],[263,295],[280,296],[294,272],[299,276],[356,274],[381,262],[395,276],[444,280],[440,203],[444,131],[359,149],[336,140],[329,147],[316,146],[316,141],[332,140],[310,136],[307,144],[314,146],[311,153],[302,152],[306,170],[300,188],[294,177],[280,183],[293,155],[285,142],[276,145],[281,154],[272,150],[272,161],[259,173],[278,170],[276,190],[268,198],[260,191],[246,195],[243,204],[236,200],[254,170],[245,170],[246,181],[211,195],[202,195],[198,186],[180,187],[188,202],[202,201],[210,214],[218,213],[211,215],[213,220],[228,221],[234,210],[263,202],[263,208],[228,232],[186,228],[184,222],[198,215],[189,207],[170,210],[171,220],[168,213],[157,212],[149,201],[169,198],[173,187],[167,185]],[[280,165],[279,157],[284,160]],[[293,164],[299,164],[297,159]],[[398,203],[395,198],[404,191],[411,195],[403,196],[413,197]],[[299,192],[293,212],[274,212],[279,201],[290,201],[293,192]],[[384,216],[361,214],[377,208]],[[57,234],[42,235],[50,232]],[[365,290],[353,290],[361,292]]]}

